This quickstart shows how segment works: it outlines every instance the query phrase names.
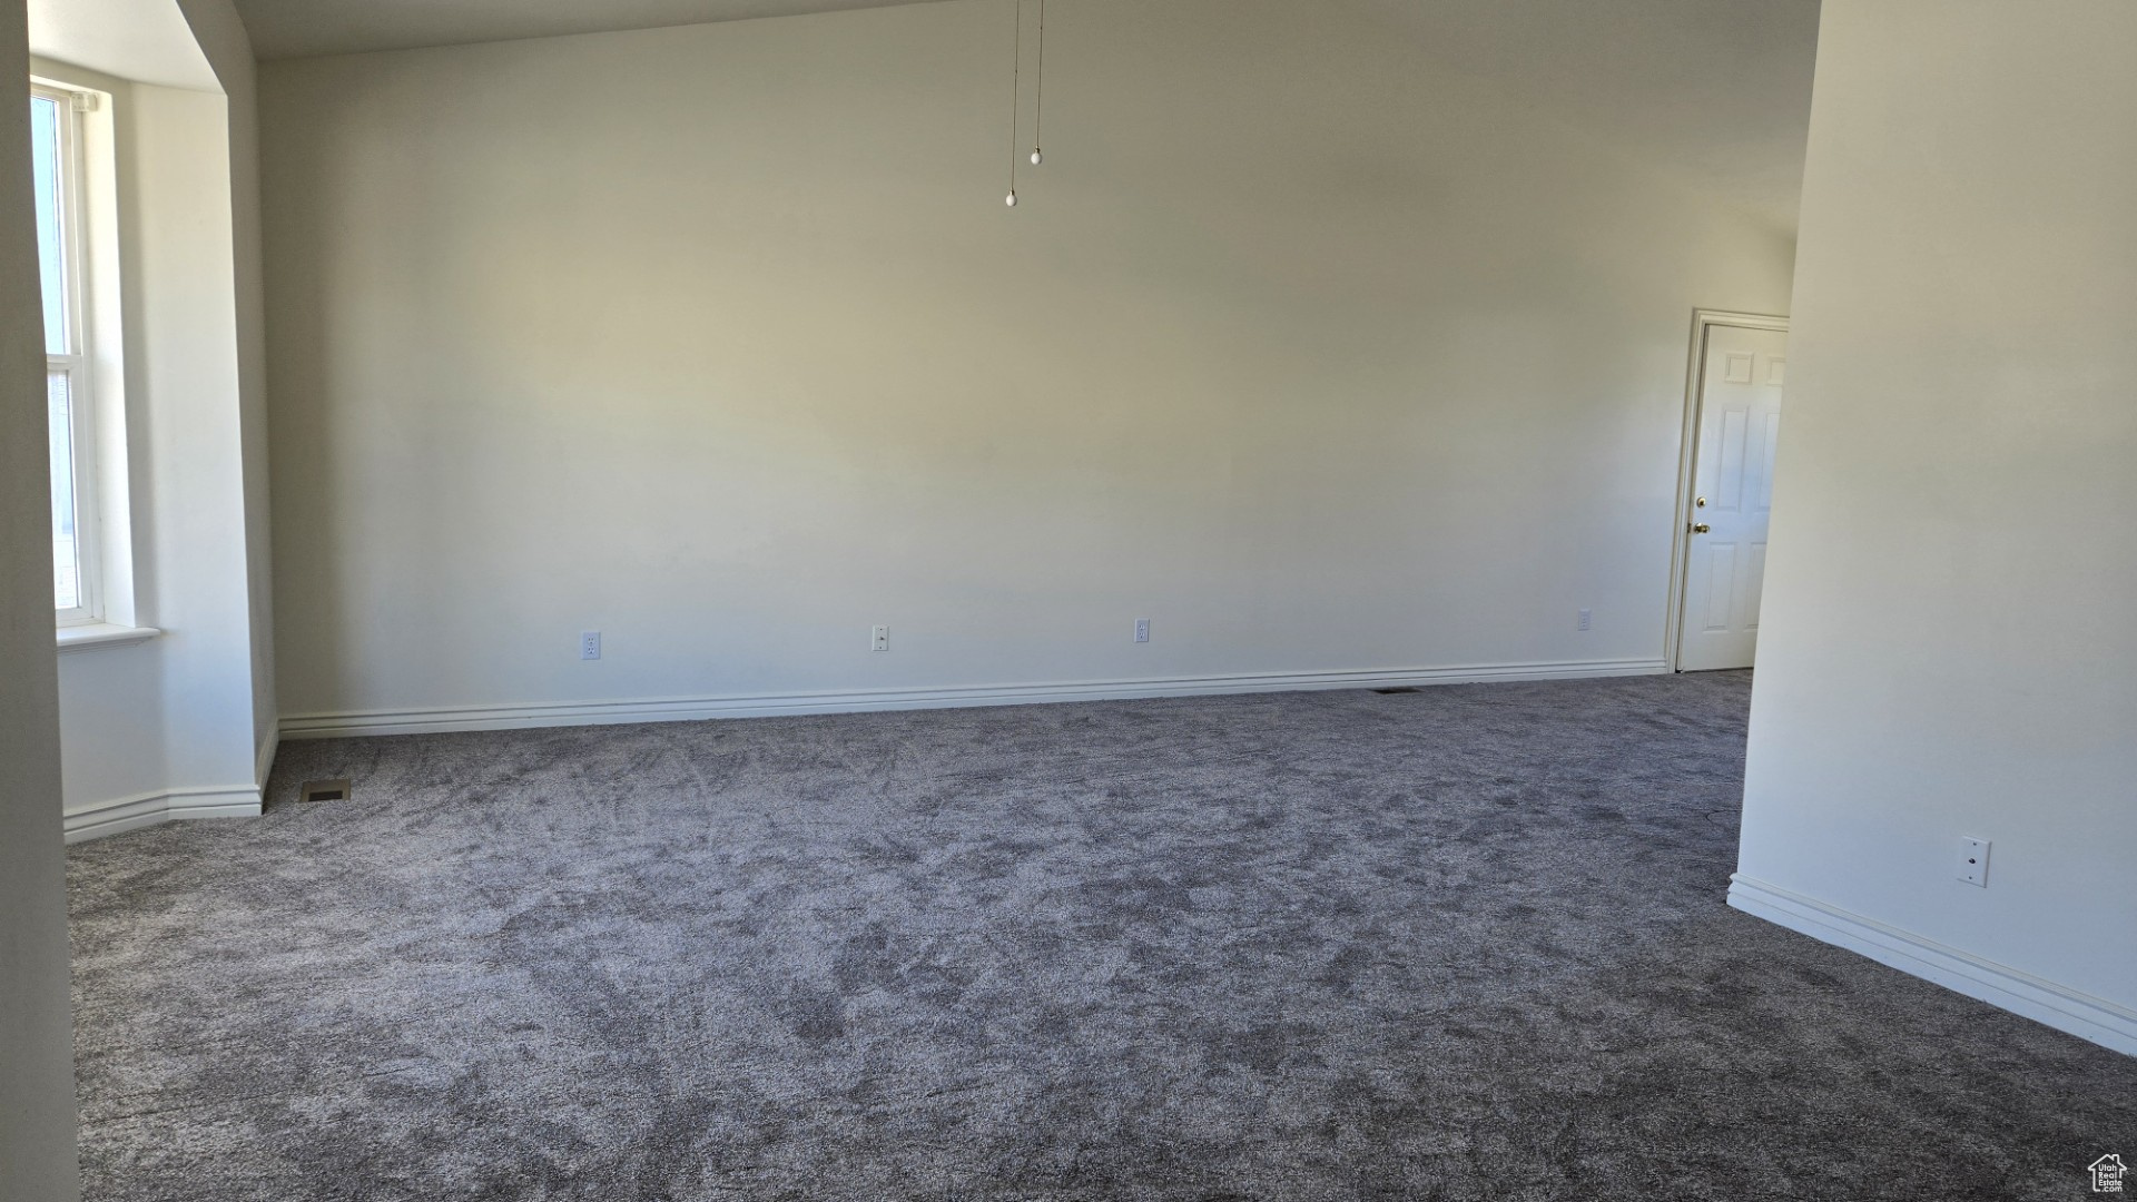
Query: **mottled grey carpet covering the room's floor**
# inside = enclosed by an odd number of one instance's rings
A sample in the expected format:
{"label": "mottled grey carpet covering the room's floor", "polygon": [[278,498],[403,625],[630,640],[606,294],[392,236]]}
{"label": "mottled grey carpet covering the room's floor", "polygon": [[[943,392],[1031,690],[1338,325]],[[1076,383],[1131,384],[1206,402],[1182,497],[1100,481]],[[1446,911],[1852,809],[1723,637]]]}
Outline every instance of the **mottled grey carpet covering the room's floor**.
{"label": "mottled grey carpet covering the room's floor", "polygon": [[2137,1061],[1722,905],[1748,684],[288,744],[267,817],[71,853],[88,1198],[2075,1200],[2137,1161]]}

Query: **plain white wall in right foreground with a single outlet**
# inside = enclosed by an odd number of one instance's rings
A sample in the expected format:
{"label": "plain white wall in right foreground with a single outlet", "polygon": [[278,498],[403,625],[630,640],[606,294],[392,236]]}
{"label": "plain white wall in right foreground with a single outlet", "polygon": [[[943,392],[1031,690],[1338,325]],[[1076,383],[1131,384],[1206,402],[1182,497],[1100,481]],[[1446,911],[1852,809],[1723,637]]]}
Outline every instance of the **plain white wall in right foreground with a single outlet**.
{"label": "plain white wall in right foreground with a single outlet", "polygon": [[1825,4],[1733,896],[2137,1052],[2133,53]]}

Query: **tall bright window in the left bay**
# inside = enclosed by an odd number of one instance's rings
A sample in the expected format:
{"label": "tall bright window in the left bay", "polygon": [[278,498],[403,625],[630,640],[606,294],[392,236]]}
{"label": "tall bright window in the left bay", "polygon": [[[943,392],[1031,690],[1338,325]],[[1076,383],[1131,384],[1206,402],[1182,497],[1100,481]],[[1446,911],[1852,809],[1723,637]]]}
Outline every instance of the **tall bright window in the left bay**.
{"label": "tall bright window in the left bay", "polygon": [[103,620],[96,524],[96,404],[90,389],[81,109],[75,92],[30,88],[36,265],[45,293],[45,398],[51,421],[51,569],[62,627]]}

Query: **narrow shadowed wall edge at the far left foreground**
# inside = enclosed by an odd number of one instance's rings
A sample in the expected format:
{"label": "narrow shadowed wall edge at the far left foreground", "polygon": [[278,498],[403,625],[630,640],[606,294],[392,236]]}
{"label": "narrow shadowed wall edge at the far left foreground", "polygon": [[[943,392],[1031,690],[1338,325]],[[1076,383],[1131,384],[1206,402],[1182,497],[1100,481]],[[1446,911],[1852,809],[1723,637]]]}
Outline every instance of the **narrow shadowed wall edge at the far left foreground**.
{"label": "narrow shadowed wall edge at the far left foreground", "polygon": [[[30,101],[24,4],[0,4],[9,105]],[[68,1202],[68,1022],[60,719],[51,652],[51,475],[36,299],[30,124],[0,122],[0,1202]]]}

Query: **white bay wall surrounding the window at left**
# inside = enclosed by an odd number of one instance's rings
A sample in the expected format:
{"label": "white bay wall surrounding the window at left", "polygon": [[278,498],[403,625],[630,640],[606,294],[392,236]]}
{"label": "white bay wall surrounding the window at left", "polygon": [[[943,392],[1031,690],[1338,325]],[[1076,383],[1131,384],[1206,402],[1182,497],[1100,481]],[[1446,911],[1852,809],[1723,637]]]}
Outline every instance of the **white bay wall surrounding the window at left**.
{"label": "white bay wall surrounding the window at left", "polygon": [[227,0],[184,9],[229,96],[38,62],[113,96],[132,614],[165,631],[60,659],[75,836],[256,811],[274,727],[252,58]]}

